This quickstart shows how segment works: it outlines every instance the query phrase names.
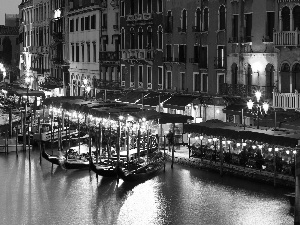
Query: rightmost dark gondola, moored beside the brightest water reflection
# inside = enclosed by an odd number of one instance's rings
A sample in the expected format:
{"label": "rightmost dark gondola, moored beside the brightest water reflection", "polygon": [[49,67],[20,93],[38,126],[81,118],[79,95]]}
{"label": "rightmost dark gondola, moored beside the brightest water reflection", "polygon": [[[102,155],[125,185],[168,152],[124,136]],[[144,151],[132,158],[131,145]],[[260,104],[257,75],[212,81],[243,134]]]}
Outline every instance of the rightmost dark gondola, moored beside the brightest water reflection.
{"label": "rightmost dark gondola, moored beside the brightest water reflection", "polygon": [[164,167],[162,153],[151,158],[148,163],[125,164],[117,169],[118,176],[123,181],[145,181],[155,176]]}

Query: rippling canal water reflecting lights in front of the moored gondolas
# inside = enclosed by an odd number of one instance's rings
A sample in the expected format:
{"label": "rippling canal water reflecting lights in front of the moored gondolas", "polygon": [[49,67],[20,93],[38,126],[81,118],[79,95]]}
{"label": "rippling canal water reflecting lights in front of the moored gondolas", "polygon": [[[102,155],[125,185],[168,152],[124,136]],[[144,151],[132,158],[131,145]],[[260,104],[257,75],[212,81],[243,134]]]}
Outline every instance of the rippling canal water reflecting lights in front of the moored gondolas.
{"label": "rippling canal water reflecting lights in front of the moored gondolas", "polygon": [[0,224],[293,224],[291,190],[166,165],[144,183],[65,171],[33,151],[0,155]]}

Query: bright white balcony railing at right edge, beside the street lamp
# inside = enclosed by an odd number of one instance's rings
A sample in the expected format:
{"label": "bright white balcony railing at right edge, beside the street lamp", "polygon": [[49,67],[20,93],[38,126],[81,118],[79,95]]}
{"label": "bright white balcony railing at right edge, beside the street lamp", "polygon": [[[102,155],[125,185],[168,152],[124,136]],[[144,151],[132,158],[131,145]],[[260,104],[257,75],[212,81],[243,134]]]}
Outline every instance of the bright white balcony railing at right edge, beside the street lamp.
{"label": "bright white balcony railing at right edge, beside the street lamp", "polygon": [[273,92],[273,107],[282,109],[299,109],[300,94]]}

